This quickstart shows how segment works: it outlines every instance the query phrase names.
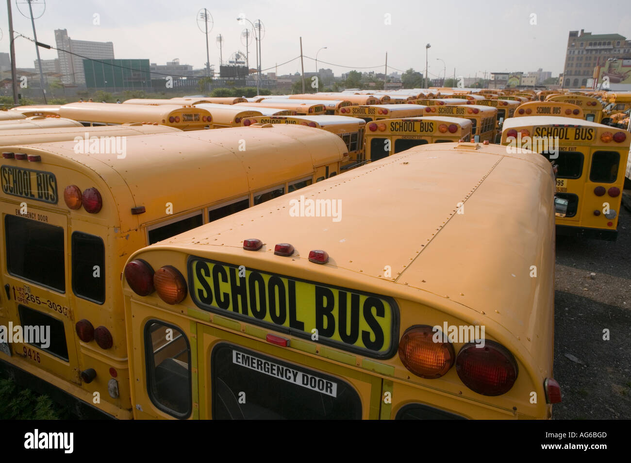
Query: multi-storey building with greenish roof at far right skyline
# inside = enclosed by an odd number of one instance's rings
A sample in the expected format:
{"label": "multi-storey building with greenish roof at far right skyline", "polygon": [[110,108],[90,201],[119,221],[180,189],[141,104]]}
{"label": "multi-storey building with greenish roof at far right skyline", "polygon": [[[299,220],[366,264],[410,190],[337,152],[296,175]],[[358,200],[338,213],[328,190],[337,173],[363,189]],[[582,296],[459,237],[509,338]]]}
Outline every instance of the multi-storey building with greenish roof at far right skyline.
{"label": "multi-storey building with greenish roof at far right skyline", "polygon": [[594,67],[604,66],[608,59],[630,59],[631,40],[620,34],[593,34],[570,31],[563,66],[565,88],[587,85],[593,77]]}

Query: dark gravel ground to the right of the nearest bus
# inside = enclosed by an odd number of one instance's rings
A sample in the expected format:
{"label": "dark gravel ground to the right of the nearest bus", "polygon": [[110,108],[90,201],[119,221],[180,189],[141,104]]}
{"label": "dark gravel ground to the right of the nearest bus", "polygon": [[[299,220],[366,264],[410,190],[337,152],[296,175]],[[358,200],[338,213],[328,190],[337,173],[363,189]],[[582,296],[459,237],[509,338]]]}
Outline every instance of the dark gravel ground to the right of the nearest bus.
{"label": "dark gravel ground to the right of the nearest bus", "polygon": [[563,401],[554,419],[631,419],[631,212],[621,209],[615,242],[557,236],[554,377]]}

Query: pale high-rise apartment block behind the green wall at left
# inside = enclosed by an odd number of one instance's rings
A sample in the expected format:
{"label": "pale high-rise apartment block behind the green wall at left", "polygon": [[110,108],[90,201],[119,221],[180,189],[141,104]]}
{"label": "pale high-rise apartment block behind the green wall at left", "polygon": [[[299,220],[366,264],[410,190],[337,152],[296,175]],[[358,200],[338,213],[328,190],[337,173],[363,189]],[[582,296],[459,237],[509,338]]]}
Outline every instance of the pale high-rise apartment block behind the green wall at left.
{"label": "pale high-rise apartment block behind the green wall at left", "polygon": [[[57,56],[63,83],[85,85],[83,73],[83,58],[114,59],[114,44],[112,42],[88,42],[87,40],[73,40],[68,37],[68,30],[56,29]],[[61,50],[68,50],[69,54]],[[78,55],[78,56],[77,56]]]}

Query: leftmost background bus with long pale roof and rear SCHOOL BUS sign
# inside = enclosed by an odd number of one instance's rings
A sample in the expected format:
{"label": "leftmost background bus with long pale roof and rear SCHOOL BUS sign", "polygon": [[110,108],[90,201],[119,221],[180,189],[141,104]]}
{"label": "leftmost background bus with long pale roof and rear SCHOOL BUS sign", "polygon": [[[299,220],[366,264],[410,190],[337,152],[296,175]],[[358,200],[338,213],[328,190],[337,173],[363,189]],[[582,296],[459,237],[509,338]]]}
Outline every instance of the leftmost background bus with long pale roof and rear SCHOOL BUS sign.
{"label": "leftmost background bus with long pale roof and rear SCHOOL BUS sign", "polygon": [[117,103],[69,103],[59,107],[59,115],[80,121],[86,127],[148,122],[181,130],[209,129],[210,113],[182,105],[119,105]]}

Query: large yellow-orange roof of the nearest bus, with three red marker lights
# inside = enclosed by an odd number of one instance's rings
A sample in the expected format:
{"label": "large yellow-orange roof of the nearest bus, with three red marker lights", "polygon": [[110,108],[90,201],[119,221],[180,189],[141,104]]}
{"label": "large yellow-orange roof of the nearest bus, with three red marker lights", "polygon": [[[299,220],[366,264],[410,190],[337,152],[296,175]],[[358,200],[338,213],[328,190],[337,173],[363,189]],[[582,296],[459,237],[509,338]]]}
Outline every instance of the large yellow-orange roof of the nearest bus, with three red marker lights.
{"label": "large yellow-orange roof of the nearest bus, with three red marker lights", "polygon": [[[553,172],[543,156],[507,154],[493,144],[428,144],[186,231],[134,257],[177,250],[220,262],[246,258],[248,267],[309,281],[333,278],[341,287],[501,325],[498,341],[538,356],[546,349],[534,320],[546,317],[547,323],[554,288],[546,282],[534,290],[529,272],[533,262],[546,272],[554,265],[552,192]],[[292,199],[312,196],[340,199],[341,220],[290,215]],[[459,202],[466,214],[456,213]],[[245,238],[259,238],[265,247],[244,250]],[[475,245],[459,246],[465,242]],[[291,259],[274,256],[275,243],[291,243],[296,252]],[[325,250],[329,263],[309,262],[312,249]],[[391,278],[384,276],[384,262]]]}

